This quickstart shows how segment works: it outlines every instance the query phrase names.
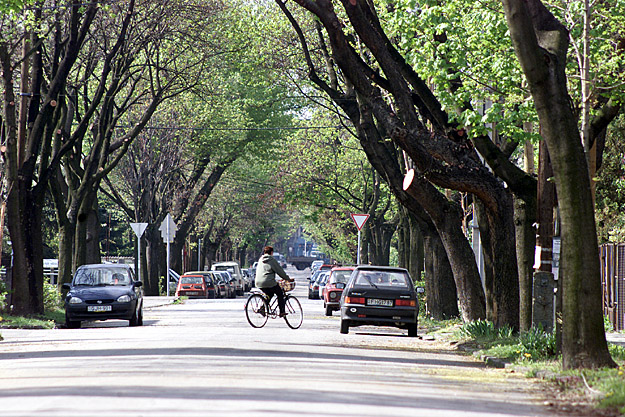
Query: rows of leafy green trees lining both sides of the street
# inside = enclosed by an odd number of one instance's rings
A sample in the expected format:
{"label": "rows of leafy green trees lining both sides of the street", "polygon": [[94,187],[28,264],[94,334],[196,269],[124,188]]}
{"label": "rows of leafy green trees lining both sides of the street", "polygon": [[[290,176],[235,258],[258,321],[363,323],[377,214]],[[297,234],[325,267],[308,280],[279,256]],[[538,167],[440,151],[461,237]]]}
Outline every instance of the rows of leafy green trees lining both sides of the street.
{"label": "rows of leafy green trees lining both sides of the street", "polygon": [[129,227],[111,233],[107,217],[149,224],[141,278],[158,294],[168,213],[178,227],[171,266],[183,272],[215,259],[247,264],[268,242],[287,253],[301,228],[353,262],[349,213],[362,212],[361,259],[423,276],[428,314],[525,331],[536,234],[549,248],[557,213],[564,366],[614,366],[597,236],[625,229],[620,6],[0,7],[14,313],[43,310],[46,251],[59,259],[59,284],[99,262],[105,241],[136,253]]}

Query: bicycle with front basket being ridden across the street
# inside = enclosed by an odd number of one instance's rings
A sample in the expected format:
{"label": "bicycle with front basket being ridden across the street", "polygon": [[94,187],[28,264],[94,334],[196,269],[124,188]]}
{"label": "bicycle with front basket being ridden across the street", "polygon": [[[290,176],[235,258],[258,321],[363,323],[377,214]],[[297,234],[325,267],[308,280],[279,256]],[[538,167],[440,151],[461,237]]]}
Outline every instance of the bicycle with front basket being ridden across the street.
{"label": "bicycle with front basket being ridden across the street", "polygon": [[[280,281],[280,286],[284,290],[284,321],[291,329],[299,329],[304,320],[304,312],[299,300],[287,291],[295,288],[295,282]],[[283,284],[284,283],[284,284]],[[245,316],[252,327],[263,327],[269,318],[275,319],[280,316],[278,308],[278,298],[273,297],[270,301],[267,294],[260,288],[252,288],[252,294],[245,302]]]}

